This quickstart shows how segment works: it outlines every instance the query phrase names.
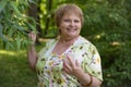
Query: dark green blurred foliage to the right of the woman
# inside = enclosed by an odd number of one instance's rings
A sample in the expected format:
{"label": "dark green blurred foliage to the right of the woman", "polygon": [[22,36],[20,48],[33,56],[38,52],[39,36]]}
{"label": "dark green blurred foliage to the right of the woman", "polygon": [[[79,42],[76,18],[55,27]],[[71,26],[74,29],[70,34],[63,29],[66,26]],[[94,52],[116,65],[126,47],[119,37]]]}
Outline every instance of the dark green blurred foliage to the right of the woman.
{"label": "dark green blurred foliage to the right of the woman", "polygon": [[[82,36],[99,50],[104,87],[128,87],[131,80],[131,17],[129,0],[87,1]],[[128,5],[128,8],[126,7]],[[131,8],[131,7],[130,7]],[[122,82],[122,83],[121,83]]]}

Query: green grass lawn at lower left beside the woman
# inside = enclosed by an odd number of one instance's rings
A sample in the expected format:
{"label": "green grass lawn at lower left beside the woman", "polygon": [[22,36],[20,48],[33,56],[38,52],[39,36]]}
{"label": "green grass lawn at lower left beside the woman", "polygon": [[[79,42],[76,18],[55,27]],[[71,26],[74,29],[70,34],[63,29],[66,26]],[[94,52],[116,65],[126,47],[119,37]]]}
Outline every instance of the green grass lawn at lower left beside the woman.
{"label": "green grass lawn at lower left beside the woman", "polygon": [[29,69],[26,54],[26,49],[0,50],[0,87],[37,87],[37,75]]}

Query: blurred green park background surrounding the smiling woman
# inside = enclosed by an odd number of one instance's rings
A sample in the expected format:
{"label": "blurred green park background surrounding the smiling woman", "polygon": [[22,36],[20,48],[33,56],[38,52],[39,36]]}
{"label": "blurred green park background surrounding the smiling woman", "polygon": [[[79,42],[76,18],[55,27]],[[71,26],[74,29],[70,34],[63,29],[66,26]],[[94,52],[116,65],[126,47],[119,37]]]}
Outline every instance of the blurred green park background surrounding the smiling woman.
{"label": "blurred green park background surrounding the smiling woman", "polygon": [[37,87],[27,62],[29,32],[36,50],[57,38],[55,10],[75,3],[84,13],[81,35],[102,57],[102,87],[131,86],[131,0],[0,0],[0,87]]}

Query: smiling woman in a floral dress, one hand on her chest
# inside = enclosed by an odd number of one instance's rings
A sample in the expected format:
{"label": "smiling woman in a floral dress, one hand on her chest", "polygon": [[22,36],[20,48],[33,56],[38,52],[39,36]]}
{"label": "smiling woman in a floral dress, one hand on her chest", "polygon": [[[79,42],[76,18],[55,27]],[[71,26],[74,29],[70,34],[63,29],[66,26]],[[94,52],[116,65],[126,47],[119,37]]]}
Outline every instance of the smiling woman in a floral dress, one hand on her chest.
{"label": "smiling woman in a floral dress, one hand on her chest", "polygon": [[[80,36],[82,10],[62,4],[56,11],[59,39],[50,40],[38,54],[34,45],[28,61],[38,75],[38,87],[99,87],[103,82],[100,58],[95,46]],[[36,35],[29,37],[35,42]]]}

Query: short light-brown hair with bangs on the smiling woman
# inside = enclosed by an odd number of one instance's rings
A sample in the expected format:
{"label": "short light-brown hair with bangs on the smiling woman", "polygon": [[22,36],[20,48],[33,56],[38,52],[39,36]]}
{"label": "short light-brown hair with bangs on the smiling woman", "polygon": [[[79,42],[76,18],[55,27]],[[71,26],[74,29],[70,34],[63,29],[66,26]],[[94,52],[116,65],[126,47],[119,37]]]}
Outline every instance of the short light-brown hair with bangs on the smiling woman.
{"label": "short light-brown hair with bangs on the smiling woman", "polygon": [[76,14],[81,18],[81,23],[83,24],[82,10],[76,4],[70,3],[70,4],[62,4],[56,10],[55,21],[57,26],[59,27],[60,22],[66,14],[71,14],[71,13]]}

